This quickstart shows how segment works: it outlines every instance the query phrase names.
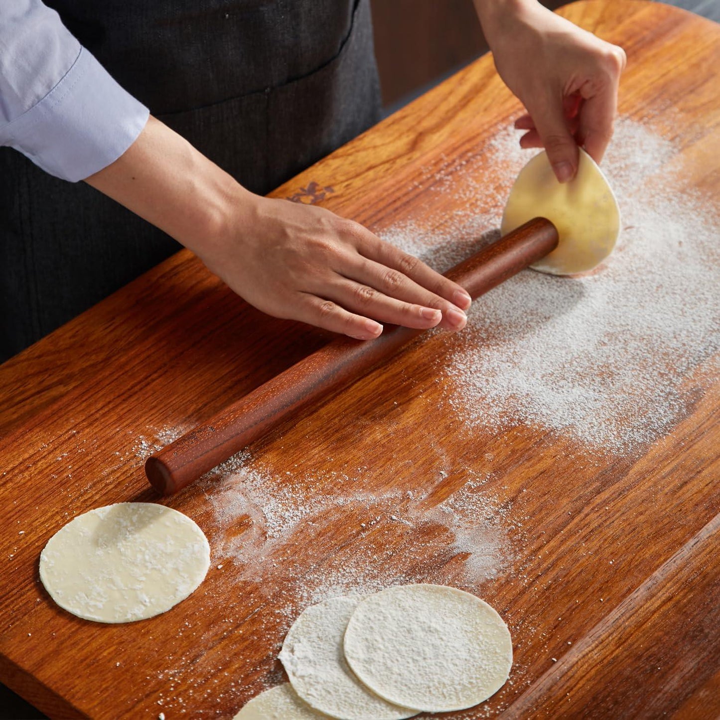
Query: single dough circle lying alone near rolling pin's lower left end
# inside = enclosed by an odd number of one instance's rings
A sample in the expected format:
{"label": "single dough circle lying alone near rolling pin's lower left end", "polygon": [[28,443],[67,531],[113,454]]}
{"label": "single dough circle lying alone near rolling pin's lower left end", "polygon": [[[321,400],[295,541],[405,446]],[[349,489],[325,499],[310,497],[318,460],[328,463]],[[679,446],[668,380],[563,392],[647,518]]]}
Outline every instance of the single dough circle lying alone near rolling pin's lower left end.
{"label": "single dough circle lying alone near rolling pin's lower left end", "polygon": [[210,567],[210,545],[187,516],[155,503],[117,503],[73,518],[40,554],[40,580],[86,620],[144,620],[184,600]]}

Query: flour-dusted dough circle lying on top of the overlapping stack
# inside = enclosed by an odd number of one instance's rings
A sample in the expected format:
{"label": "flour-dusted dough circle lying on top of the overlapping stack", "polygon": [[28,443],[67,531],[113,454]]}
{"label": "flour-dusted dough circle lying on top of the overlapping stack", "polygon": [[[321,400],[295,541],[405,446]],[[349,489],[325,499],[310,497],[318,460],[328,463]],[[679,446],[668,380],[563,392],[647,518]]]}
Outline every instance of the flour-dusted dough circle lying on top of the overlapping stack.
{"label": "flour-dusted dough circle lying on top of the overlapping stack", "polygon": [[364,598],[344,649],[379,696],[432,713],[481,703],[513,665],[503,618],[480,598],[444,585],[400,585]]}

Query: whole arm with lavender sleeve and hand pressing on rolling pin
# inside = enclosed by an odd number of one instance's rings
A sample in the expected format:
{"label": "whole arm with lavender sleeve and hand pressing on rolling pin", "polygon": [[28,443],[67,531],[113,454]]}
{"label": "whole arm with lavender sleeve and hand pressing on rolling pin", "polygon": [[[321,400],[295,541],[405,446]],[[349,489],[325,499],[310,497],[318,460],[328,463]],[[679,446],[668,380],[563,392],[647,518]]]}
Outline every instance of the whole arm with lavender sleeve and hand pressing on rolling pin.
{"label": "whole arm with lavender sleeve and hand pressing on rolling pin", "polygon": [[363,339],[384,322],[466,322],[467,292],[417,258],[327,210],[247,192],[148,121],[40,0],[0,4],[0,145],[62,179],[86,179],[270,315]]}

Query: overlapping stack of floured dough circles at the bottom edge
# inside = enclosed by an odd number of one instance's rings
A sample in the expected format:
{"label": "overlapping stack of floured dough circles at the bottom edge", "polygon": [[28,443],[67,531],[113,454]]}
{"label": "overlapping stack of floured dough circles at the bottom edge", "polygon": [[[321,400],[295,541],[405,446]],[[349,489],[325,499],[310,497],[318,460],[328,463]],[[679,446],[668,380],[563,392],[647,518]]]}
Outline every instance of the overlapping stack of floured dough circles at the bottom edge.
{"label": "overlapping stack of floured dough circles at the bottom edge", "polygon": [[485,701],[508,679],[510,632],[480,598],[444,585],[398,585],[310,606],[279,658],[289,683],[235,720],[400,720]]}

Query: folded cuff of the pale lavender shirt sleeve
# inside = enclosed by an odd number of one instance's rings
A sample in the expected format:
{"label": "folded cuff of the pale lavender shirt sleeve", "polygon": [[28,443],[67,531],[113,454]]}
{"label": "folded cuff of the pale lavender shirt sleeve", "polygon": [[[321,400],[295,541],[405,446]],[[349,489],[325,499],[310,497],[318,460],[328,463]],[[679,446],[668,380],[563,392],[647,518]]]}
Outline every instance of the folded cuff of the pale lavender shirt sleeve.
{"label": "folded cuff of the pale lavender shirt sleeve", "polygon": [[125,153],[148,116],[148,108],[81,48],[40,102],[0,128],[0,144],[19,150],[51,175],[77,182]]}

